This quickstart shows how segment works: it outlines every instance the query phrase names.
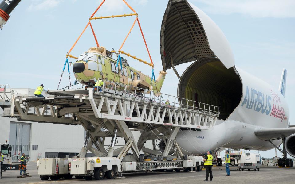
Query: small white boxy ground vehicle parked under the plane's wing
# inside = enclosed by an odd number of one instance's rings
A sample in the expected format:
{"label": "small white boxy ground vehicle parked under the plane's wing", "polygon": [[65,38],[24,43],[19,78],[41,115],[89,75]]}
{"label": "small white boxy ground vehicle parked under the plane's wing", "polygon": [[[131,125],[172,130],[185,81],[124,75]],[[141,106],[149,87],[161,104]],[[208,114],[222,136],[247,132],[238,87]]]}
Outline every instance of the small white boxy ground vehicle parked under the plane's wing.
{"label": "small white boxy ground vehicle parked under the plane's wing", "polygon": [[242,153],[241,154],[241,170],[244,169],[254,169],[254,171],[259,171],[260,167],[262,166],[261,163],[261,156],[260,154],[255,153]]}

